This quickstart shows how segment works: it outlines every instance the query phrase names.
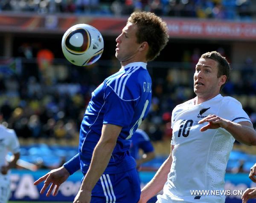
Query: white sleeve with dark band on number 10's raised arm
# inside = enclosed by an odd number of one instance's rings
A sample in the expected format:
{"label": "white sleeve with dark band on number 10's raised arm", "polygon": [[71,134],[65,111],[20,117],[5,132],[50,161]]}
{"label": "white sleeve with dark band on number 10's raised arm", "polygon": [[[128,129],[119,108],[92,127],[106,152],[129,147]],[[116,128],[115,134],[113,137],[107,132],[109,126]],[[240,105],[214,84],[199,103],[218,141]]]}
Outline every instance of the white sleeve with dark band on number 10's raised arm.
{"label": "white sleeve with dark band on number 10's raised arm", "polygon": [[223,118],[235,123],[239,123],[241,121],[248,121],[251,123],[251,120],[247,113],[243,110],[241,103],[236,99],[227,97],[224,99],[222,104],[223,105],[220,111],[223,114]]}

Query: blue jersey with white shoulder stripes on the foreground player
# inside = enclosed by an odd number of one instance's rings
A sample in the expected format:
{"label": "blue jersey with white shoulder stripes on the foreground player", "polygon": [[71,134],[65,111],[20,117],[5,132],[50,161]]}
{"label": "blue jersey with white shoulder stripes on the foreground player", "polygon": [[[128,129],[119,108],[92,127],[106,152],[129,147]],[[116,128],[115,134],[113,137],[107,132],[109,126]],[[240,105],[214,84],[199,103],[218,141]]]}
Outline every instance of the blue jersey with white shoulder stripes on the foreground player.
{"label": "blue jersey with white shoulder stripes on the foreground player", "polygon": [[136,163],[129,154],[130,138],[147,115],[150,104],[151,77],[143,62],[126,65],[93,91],[80,130],[79,158],[83,173],[90,166],[103,124],[122,126],[104,174],[135,168]]}

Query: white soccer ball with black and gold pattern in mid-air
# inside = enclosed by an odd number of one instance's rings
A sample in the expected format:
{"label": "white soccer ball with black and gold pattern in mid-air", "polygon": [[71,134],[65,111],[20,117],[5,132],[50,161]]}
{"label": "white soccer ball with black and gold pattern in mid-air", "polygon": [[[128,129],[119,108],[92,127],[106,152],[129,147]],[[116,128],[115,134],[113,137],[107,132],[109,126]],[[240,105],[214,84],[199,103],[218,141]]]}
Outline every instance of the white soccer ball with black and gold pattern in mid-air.
{"label": "white soccer ball with black and gold pattern in mid-air", "polygon": [[100,58],[104,42],[96,28],[87,24],[77,24],[64,33],[61,48],[69,62],[86,66],[95,63]]}

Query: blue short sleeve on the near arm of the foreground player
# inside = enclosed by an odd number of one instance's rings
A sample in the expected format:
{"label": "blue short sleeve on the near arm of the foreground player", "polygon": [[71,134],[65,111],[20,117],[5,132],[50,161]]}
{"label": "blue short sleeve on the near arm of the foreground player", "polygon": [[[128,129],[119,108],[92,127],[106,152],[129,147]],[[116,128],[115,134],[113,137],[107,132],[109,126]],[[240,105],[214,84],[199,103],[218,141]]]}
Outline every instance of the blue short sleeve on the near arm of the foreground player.
{"label": "blue short sleeve on the near arm of the foreground player", "polygon": [[134,85],[126,84],[125,87],[115,88],[106,84],[103,124],[122,127],[131,124],[131,118],[139,98],[138,88]]}

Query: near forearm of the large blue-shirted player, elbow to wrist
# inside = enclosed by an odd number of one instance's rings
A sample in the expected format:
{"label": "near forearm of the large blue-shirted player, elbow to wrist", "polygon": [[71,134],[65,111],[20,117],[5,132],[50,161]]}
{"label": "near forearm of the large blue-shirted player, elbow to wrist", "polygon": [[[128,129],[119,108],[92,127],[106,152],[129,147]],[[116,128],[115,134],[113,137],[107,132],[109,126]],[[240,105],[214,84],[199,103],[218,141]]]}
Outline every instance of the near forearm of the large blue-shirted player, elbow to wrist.
{"label": "near forearm of the large blue-shirted player, elbow to wrist", "polygon": [[92,191],[108,166],[116,142],[99,142],[94,151],[90,167],[84,177],[81,190]]}

